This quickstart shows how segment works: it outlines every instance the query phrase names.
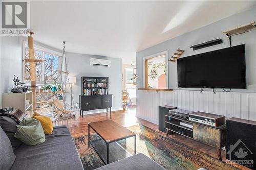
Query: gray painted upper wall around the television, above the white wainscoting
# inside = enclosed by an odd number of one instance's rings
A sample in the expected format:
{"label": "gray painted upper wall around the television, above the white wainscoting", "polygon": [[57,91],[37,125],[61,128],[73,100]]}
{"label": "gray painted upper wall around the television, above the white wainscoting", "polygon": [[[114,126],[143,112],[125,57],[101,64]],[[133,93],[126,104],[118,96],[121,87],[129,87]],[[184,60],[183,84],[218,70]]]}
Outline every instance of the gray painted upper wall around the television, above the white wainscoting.
{"label": "gray painted upper wall around the television, above the white wainscoting", "polygon": [[[256,21],[256,7],[242,13],[232,15],[228,18],[214,22],[205,27],[175,37],[173,39],[164,41],[155,46],[146,48],[136,53],[137,65],[137,87],[143,87],[143,57],[150,56],[159,52],[168,50],[169,57],[176,51],[177,48],[185,50],[181,57],[200,54],[208,51],[218,50],[229,46],[227,36],[221,34],[222,31],[244,25],[250,21]],[[170,30],[172,31],[172,30]],[[222,44],[202,48],[193,51],[190,46],[203,43],[209,40],[221,38]],[[256,92],[256,30],[232,36],[232,45],[245,44],[246,55],[246,76],[247,76],[247,89],[232,89],[237,92]],[[221,62],[221,61],[220,61]],[[177,85],[177,62],[168,62],[169,70],[169,88],[182,89]],[[182,89],[182,90],[198,90],[198,89]],[[207,90],[207,89],[206,89]],[[209,89],[210,90],[210,89]],[[222,89],[217,89],[223,91]]]}

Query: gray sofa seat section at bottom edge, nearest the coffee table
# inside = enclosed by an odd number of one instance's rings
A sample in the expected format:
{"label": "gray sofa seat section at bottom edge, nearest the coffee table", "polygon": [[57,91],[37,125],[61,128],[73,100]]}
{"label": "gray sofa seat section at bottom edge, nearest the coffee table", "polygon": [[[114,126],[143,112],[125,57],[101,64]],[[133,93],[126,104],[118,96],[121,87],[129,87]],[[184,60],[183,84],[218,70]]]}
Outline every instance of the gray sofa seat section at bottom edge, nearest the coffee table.
{"label": "gray sofa seat section at bottom edge, nearest the coffee table", "polygon": [[159,165],[154,160],[148,158],[144,154],[137,154],[131,157],[118,160],[116,162],[110,163],[105,166],[101,166],[95,170],[164,170],[161,165]]}

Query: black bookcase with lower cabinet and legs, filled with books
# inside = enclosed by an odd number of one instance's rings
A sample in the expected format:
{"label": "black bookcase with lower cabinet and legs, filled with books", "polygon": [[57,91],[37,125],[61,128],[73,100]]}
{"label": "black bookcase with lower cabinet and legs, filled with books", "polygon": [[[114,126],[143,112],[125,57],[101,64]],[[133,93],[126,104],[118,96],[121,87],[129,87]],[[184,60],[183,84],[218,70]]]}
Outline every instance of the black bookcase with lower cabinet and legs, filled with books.
{"label": "black bookcase with lower cabinet and legs, filled with books", "polygon": [[108,77],[81,77],[81,95],[79,95],[80,115],[84,111],[110,108],[111,117],[112,94],[109,94]]}

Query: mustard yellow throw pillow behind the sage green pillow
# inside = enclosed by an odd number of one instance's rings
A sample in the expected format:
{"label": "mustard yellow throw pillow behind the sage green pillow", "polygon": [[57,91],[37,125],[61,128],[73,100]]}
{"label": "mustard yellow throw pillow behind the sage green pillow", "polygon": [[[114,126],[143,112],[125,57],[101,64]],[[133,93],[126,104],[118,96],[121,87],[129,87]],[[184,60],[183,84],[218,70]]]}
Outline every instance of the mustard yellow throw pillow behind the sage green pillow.
{"label": "mustard yellow throw pillow behind the sage green pillow", "polygon": [[53,123],[50,117],[40,115],[38,113],[36,115],[34,114],[32,117],[37,119],[41,123],[42,129],[44,129],[45,134],[52,134]]}

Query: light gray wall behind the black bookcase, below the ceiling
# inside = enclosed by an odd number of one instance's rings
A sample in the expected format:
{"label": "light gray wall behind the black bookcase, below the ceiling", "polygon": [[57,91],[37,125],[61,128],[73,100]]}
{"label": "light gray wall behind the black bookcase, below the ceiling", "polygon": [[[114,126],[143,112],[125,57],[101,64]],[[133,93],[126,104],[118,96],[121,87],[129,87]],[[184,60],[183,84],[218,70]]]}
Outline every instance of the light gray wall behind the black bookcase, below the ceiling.
{"label": "light gray wall behind the black bookcase, below the ceiling", "polygon": [[[68,71],[70,76],[75,76],[77,83],[72,85],[74,102],[79,102],[78,95],[81,94],[81,77],[109,77],[109,94],[113,94],[113,110],[122,109],[122,59],[66,53]],[[111,67],[90,66],[90,58],[111,60]],[[67,102],[70,103],[70,96],[67,94]],[[101,110],[88,111],[85,113],[100,112]],[[102,111],[105,111],[103,109]]]}

